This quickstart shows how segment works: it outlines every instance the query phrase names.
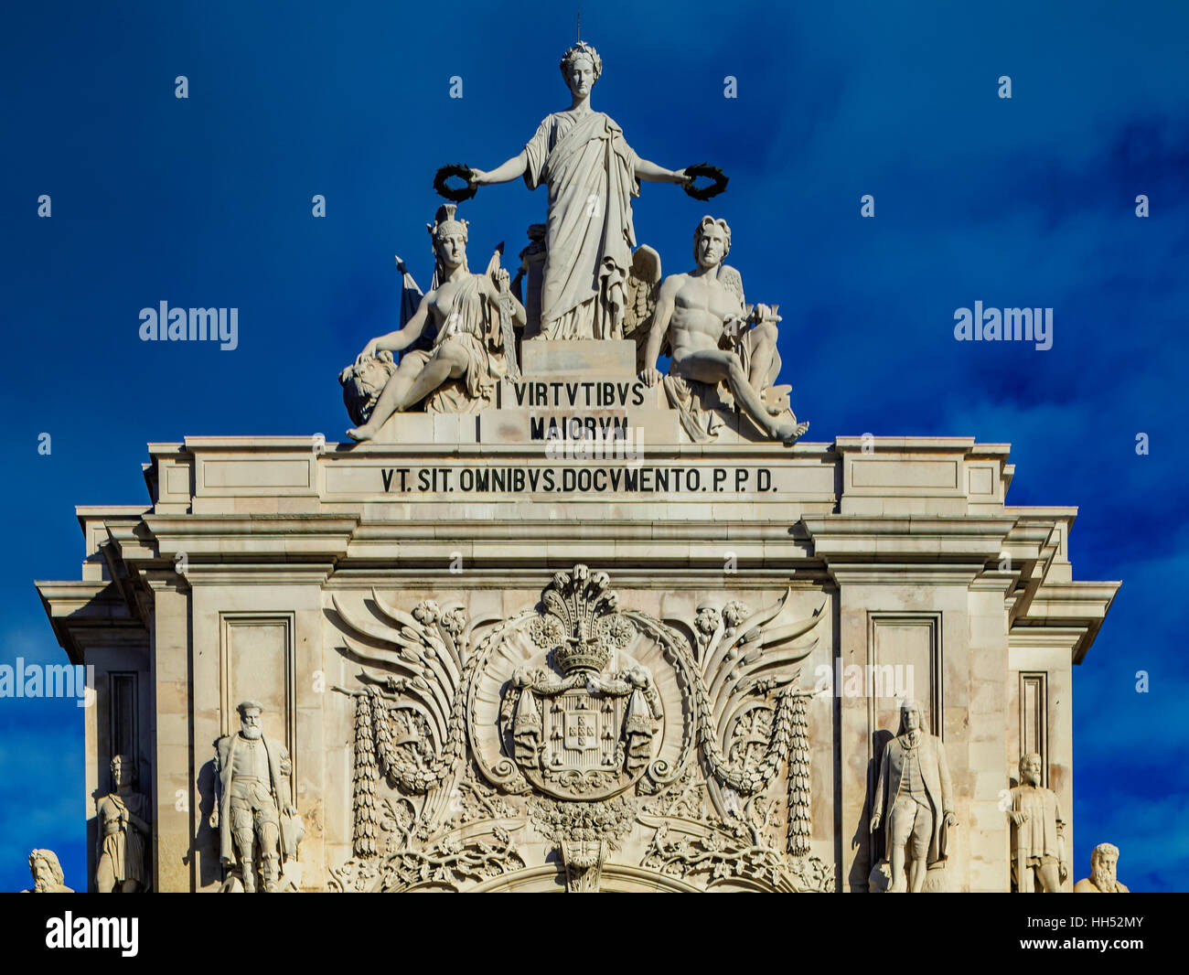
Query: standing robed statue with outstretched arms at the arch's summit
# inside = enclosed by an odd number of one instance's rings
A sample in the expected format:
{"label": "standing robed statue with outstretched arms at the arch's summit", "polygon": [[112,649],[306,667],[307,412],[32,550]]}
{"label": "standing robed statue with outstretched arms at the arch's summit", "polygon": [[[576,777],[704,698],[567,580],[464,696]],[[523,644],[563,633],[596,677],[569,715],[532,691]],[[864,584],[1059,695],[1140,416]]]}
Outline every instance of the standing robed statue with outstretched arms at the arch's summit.
{"label": "standing robed statue with outstretched arms at the arch's summit", "polygon": [[545,277],[541,287],[543,339],[623,338],[625,283],[636,234],[631,197],[640,181],[690,183],[684,169],[641,159],[623,130],[590,106],[603,71],[598,52],[579,40],[561,58],[573,96],[570,108],[548,115],[524,151],[490,172],[472,169],[470,182],[486,185],[524,177],[529,189],[549,188]]}

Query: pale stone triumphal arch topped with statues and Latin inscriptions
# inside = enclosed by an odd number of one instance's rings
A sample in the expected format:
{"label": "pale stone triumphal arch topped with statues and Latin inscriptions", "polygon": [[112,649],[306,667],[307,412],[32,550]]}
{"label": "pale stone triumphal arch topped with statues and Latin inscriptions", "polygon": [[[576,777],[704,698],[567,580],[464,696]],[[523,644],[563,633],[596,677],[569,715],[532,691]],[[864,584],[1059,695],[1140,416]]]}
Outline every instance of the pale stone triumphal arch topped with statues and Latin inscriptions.
{"label": "pale stone triumphal arch topped with statues and Latin inscriptions", "polygon": [[[1075,580],[1075,509],[1008,503],[1007,445],[810,439],[729,221],[691,205],[675,273],[637,239],[642,181],[725,175],[637,156],[602,69],[574,45],[518,156],[439,174],[340,442],[151,444],[143,503],[78,509],[82,578],[38,586],[96,674],[93,889],[1069,888],[1118,584]],[[517,178],[505,268],[466,200]]]}

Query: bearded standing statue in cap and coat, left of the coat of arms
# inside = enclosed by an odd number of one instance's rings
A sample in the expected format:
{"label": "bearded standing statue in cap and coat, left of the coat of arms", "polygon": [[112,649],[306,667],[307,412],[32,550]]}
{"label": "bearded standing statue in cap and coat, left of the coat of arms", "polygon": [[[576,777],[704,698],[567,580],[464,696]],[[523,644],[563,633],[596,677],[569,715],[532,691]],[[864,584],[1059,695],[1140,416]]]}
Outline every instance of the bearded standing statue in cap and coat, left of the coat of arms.
{"label": "bearded standing statue in cap and coat, left of the coat of arms", "polygon": [[[259,702],[245,700],[237,707],[238,734],[215,742],[215,807],[210,828],[219,830],[219,860],[239,864],[246,893],[256,891],[256,872],[266,892],[281,887],[282,863],[296,858],[301,832],[292,820],[297,810],[288,801],[292,762],[288,749],[265,738],[260,730]],[[285,822],[282,822],[282,814]],[[300,823],[300,820],[297,820]],[[259,849],[259,857],[256,850]]]}

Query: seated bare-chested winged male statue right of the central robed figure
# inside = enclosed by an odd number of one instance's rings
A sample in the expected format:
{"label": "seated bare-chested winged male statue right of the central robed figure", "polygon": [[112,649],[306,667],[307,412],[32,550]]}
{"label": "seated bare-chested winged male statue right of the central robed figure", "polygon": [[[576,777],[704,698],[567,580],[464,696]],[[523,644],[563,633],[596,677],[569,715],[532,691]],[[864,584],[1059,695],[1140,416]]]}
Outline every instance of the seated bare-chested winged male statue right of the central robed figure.
{"label": "seated bare-chested winged male statue right of the central robed figure", "polygon": [[[780,372],[775,310],[743,303],[743,279],[723,264],[731,249],[725,220],[704,216],[693,232],[697,268],[661,282],[640,378],[661,380],[656,358],[666,331],[673,347],[665,392],[693,439],[709,439],[721,424],[712,403],[724,384],[735,405],[768,436],[793,444],[809,429],[788,407],[787,388],[773,386]],[[717,422],[716,422],[717,421]]]}

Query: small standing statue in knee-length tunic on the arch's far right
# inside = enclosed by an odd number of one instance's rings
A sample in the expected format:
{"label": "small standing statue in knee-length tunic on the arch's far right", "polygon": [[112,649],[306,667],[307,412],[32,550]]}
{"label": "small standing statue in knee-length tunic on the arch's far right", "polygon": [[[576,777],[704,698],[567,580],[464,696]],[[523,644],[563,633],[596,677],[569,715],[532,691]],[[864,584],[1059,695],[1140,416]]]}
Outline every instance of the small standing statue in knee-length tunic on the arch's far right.
{"label": "small standing statue in knee-length tunic on the arch's far right", "polygon": [[1046,894],[1061,891],[1069,875],[1065,861],[1065,823],[1057,793],[1040,785],[1040,755],[1020,756],[1020,784],[1012,790],[1012,868],[1015,891],[1036,892],[1036,881]]}

